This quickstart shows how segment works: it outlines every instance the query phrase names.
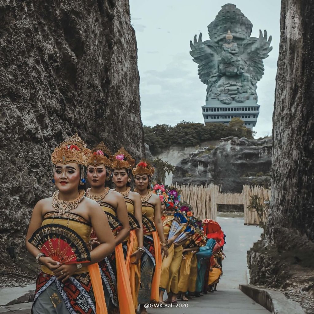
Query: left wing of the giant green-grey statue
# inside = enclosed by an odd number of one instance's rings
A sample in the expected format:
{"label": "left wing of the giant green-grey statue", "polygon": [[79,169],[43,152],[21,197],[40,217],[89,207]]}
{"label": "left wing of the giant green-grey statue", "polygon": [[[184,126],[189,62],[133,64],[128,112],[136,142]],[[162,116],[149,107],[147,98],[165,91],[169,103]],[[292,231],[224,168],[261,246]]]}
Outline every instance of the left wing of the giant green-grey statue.
{"label": "left wing of the giant green-grey statue", "polygon": [[196,35],[194,41],[190,41],[190,55],[193,61],[198,63],[198,76],[204,84],[208,84],[208,78],[218,73],[218,47],[211,41],[202,41],[202,33],[198,40]]}

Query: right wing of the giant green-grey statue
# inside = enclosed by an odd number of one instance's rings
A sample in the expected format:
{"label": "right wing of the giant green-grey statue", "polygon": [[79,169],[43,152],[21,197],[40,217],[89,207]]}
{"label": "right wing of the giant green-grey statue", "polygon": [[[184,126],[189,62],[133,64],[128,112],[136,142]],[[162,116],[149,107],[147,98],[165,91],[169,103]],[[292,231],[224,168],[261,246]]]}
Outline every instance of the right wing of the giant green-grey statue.
{"label": "right wing of the giant green-grey statue", "polygon": [[249,38],[243,43],[242,49],[243,53],[241,58],[245,60],[248,66],[248,73],[251,77],[259,81],[264,74],[264,64],[263,59],[268,57],[268,53],[273,49],[270,46],[272,36],[269,36],[267,40],[267,31],[264,30],[264,35],[261,30],[259,30],[259,37]]}

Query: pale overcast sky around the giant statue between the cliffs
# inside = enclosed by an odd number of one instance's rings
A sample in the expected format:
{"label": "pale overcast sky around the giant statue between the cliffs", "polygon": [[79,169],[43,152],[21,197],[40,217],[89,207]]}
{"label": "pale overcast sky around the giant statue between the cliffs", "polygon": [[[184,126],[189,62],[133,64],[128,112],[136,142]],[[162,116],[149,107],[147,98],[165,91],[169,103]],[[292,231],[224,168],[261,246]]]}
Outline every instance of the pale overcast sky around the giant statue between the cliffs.
{"label": "pale overcast sky around the giant statue between the cliffs", "polygon": [[[176,125],[204,122],[206,85],[198,78],[198,65],[189,54],[190,40],[215,19],[221,0],[130,0],[131,23],[136,32],[140,73],[141,115],[144,125]],[[254,130],[257,137],[271,135],[275,77],[280,39],[280,0],[232,2],[259,30],[272,36],[273,50],[264,59],[265,73],[257,83],[260,114]]]}

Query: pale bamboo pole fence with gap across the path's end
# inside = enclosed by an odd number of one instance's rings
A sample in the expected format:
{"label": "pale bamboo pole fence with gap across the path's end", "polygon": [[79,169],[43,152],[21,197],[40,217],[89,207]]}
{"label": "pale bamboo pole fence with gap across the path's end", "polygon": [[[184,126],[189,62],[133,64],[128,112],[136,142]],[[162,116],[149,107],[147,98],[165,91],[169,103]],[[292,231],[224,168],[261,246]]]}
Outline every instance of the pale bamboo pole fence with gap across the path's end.
{"label": "pale bamboo pole fence with gap across the path's end", "polygon": [[[221,185],[179,185],[183,202],[187,202],[193,208],[195,216],[200,219],[217,219],[217,204],[244,205],[244,224],[259,225],[260,217],[256,211],[248,209],[252,195],[258,195],[260,202],[269,201],[270,190],[260,186],[244,185],[242,193],[221,193]],[[264,206],[265,208],[266,206]],[[268,211],[264,211],[263,221],[266,222]]]}

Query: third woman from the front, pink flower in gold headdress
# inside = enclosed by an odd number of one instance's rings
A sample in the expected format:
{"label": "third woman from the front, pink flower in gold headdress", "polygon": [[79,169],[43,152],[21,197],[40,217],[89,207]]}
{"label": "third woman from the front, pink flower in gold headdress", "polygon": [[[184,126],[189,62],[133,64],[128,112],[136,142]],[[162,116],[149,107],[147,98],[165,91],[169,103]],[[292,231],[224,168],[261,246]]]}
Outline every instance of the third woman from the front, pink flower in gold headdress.
{"label": "third woman from the front, pink flower in gold headdress", "polygon": [[141,276],[140,260],[144,249],[141,198],[138,193],[130,191],[131,170],[135,160],[124,148],[121,148],[112,156],[111,161],[112,181],[116,186],[113,191],[119,192],[124,198],[131,226],[130,236],[125,239],[122,246],[125,249],[133,304],[137,309]]}

